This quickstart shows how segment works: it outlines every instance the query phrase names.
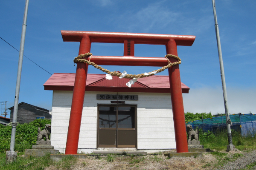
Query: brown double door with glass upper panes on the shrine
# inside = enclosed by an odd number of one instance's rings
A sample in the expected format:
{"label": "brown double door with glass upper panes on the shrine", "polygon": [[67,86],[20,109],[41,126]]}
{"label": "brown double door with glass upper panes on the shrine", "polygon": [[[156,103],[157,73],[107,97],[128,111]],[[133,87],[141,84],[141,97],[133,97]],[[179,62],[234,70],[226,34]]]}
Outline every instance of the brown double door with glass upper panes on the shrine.
{"label": "brown double door with glass upper panes on the shrine", "polygon": [[98,147],[136,147],[135,105],[98,105]]}

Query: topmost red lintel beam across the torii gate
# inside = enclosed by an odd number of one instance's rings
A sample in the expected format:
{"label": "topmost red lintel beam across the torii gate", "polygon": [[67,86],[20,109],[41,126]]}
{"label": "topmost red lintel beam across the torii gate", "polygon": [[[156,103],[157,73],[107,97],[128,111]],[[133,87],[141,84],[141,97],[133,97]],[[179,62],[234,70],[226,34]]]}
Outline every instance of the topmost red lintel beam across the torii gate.
{"label": "topmost red lintel beam across the torii gate", "polygon": [[135,44],[166,45],[169,40],[175,40],[176,45],[191,46],[195,41],[195,36],[192,35],[96,31],[61,31],[61,35],[65,42],[81,42],[83,37],[89,37],[90,42],[124,43],[124,40],[134,40]]}

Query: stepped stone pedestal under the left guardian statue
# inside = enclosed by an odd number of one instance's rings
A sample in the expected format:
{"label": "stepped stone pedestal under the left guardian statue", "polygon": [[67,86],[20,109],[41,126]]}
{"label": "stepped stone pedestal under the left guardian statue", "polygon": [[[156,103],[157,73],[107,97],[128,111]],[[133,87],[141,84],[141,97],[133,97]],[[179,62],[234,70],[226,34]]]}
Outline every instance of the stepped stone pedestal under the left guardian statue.
{"label": "stepped stone pedestal under the left guardian statue", "polygon": [[51,145],[51,141],[37,141],[36,144],[32,146],[32,149],[25,149],[25,158],[29,158],[29,156],[41,157],[47,153],[58,153],[58,150],[55,150],[54,146]]}

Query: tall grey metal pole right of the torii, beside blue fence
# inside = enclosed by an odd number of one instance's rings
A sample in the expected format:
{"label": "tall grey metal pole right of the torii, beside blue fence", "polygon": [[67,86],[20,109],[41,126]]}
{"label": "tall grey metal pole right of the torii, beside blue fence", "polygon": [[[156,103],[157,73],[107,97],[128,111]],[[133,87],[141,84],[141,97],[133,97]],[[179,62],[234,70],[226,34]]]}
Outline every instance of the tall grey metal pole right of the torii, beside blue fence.
{"label": "tall grey metal pole right of the torii, beside blue fence", "polygon": [[226,114],[226,120],[227,120],[227,122],[226,122],[227,138],[228,138],[228,144],[229,144],[229,145],[227,145],[227,150],[233,150],[234,145],[232,142],[231,128],[230,128],[231,120],[230,120],[229,112],[228,112],[227,89],[226,89],[224,66],[223,66],[222,53],[221,53],[220,34],[219,34],[217,15],[216,15],[216,9],[215,9],[215,0],[212,0],[212,8],[213,8],[213,14],[214,14],[214,21],[215,21],[215,32],[216,32],[216,39],[217,39],[217,45],[218,45],[218,56],[219,56],[219,62],[220,62],[220,68],[221,68],[221,82],[222,82],[222,90],[223,90],[223,97],[224,97],[224,107],[225,107],[225,114]]}

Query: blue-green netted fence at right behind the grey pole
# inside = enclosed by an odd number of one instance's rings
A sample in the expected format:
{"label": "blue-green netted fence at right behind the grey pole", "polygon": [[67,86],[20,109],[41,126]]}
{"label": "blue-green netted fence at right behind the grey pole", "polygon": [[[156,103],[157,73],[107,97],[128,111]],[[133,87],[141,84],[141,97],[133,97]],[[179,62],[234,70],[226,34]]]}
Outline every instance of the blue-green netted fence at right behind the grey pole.
{"label": "blue-green netted fence at right behind the grey pole", "polygon": [[[240,130],[241,135],[254,136],[256,134],[256,115],[255,114],[233,114],[230,115],[232,122],[231,129]],[[226,116],[212,117],[209,119],[195,120],[186,122],[186,125],[192,125],[193,129],[198,127],[203,131],[217,131],[227,128]]]}

